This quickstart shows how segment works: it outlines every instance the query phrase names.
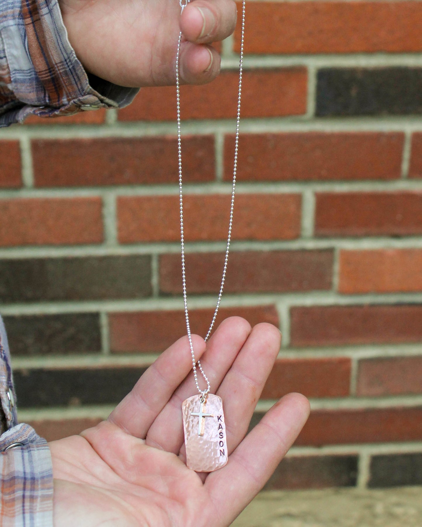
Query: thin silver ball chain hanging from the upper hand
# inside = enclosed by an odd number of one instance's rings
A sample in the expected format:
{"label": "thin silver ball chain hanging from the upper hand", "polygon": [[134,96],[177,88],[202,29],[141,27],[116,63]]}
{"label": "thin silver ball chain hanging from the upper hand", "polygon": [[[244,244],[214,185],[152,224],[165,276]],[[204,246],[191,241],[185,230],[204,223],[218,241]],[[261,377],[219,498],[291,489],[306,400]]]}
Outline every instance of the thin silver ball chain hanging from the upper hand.
{"label": "thin silver ball chain hanging from the upper hand", "polygon": [[[179,0],[179,4],[181,7],[181,13],[183,13],[183,9],[187,6],[187,4],[190,2],[190,0]],[[240,62],[239,62],[239,91],[238,91],[238,97],[237,97],[237,120],[236,120],[236,141],[235,141],[235,149],[234,149],[234,168],[233,168],[233,185],[232,185],[232,203],[230,207],[230,220],[228,223],[228,236],[227,236],[227,248],[226,248],[226,256],[224,259],[224,267],[223,267],[223,276],[222,281],[220,285],[220,291],[218,294],[218,300],[217,300],[217,306],[214,311],[214,316],[211,321],[211,325],[209,326],[208,333],[205,337],[205,341],[208,340],[209,335],[211,334],[211,331],[213,330],[215,319],[217,318],[218,308],[220,307],[220,301],[221,297],[223,295],[223,288],[224,288],[224,282],[226,279],[226,271],[227,271],[227,261],[228,261],[228,251],[230,248],[230,241],[232,238],[232,225],[233,225],[233,210],[234,210],[234,195],[235,195],[235,189],[236,189],[236,172],[237,172],[237,151],[238,151],[238,144],[239,144],[239,124],[241,120],[241,94],[242,94],[242,73],[243,73],[243,41],[244,41],[244,33],[245,33],[245,3],[246,1],[243,0],[242,4],[242,35],[241,35],[241,52],[240,52]],[[178,144],[178,160],[179,160],[179,197],[180,197],[180,243],[181,243],[181,271],[182,271],[182,280],[183,280],[183,301],[185,305],[185,318],[186,318],[186,329],[189,339],[189,346],[190,346],[190,353],[192,356],[192,365],[194,370],[194,377],[195,377],[195,385],[198,390],[198,392],[201,394],[201,401],[205,401],[205,397],[209,393],[211,386],[209,384],[209,380],[207,376],[204,373],[204,370],[202,369],[201,363],[198,360],[198,362],[195,362],[195,354],[194,354],[194,347],[192,344],[192,337],[190,333],[190,324],[189,324],[189,314],[188,314],[188,303],[187,303],[187,294],[186,294],[186,270],[185,270],[185,237],[184,237],[184,227],[183,227],[183,185],[182,185],[182,167],[181,167],[181,127],[180,127],[180,84],[179,84],[179,56],[180,56],[180,43],[181,43],[181,32],[179,34],[179,42],[177,45],[177,56],[176,56],[176,96],[177,96],[177,144]],[[198,365],[198,368],[200,372],[202,373],[206,383],[207,388],[205,390],[202,390],[199,388],[198,384],[198,377],[196,373],[196,367]]]}

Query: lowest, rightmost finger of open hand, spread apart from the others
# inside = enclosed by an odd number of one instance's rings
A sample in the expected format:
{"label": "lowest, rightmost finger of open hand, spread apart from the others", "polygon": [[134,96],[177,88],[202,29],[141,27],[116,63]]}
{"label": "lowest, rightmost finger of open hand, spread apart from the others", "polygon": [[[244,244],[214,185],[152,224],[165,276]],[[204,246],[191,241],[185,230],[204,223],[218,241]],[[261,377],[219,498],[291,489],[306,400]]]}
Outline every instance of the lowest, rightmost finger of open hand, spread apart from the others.
{"label": "lowest, rightmost finger of open hand, spread apart from the others", "polygon": [[250,503],[289,450],[310,412],[301,394],[285,395],[262,418],[228,458],[227,465],[208,475],[205,487],[212,510],[228,523]]}

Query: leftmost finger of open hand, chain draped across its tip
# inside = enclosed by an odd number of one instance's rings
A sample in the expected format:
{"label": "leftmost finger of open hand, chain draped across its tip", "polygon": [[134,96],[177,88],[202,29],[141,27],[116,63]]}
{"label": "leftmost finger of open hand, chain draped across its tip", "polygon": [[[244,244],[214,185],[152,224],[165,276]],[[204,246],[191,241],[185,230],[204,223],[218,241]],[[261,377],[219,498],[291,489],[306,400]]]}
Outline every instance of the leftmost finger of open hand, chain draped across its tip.
{"label": "leftmost finger of open hand, chain draped across its tip", "polygon": [[[192,335],[192,343],[198,360],[205,351],[205,341]],[[151,423],[192,368],[191,357],[188,338],[177,340],[147,369],[107,420],[145,439]]]}

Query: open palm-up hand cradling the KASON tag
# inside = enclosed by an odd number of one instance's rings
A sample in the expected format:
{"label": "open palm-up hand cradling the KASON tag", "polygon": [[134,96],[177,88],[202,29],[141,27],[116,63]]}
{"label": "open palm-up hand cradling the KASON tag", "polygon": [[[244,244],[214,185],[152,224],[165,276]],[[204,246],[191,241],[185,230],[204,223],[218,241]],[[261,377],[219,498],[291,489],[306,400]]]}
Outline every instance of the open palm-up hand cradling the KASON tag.
{"label": "open palm-up hand cradling the KASON tag", "polygon": [[206,351],[203,339],[193,342],[212,393],[223,398],[226,466],[205,474],[185,465],[181,403],[196,388],[187,337],[181,338],[107,421],[50,443],[55,527],[226,527],[262,489],[309,415],[308,399],[286,395],[245,437],[280,332],[270,324],[251,331],[233,317]]}

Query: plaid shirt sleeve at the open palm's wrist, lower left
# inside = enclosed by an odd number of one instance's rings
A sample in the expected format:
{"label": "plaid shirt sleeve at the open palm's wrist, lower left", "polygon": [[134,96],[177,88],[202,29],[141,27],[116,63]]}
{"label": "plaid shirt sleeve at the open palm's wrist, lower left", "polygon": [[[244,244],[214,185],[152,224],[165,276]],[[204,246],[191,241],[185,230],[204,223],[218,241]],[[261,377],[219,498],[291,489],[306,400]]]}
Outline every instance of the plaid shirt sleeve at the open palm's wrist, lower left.
{"label": "plaid shirt sleeve at the open palm's wrist, lower left", "polygon": [[53,467],[45,439],[17,422],[7,338],[0,318],[0,525],[53,527]]}

